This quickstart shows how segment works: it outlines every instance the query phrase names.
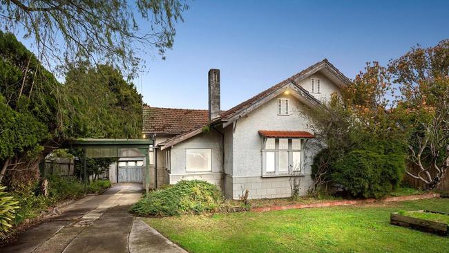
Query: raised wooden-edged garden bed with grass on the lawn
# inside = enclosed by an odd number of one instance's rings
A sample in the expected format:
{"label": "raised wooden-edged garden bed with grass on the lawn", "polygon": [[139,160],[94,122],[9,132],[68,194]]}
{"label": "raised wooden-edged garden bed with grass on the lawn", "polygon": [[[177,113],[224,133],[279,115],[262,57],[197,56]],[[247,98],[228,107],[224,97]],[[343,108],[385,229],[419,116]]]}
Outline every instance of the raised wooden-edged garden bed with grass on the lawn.
{"label": "raised wooden-edged garden bed with grass on the lawn", "polygon": [[390,223],[402,227],[411,227],[423,232],[447,236],[449,230],[449,214],[429,210],[394,212]]}

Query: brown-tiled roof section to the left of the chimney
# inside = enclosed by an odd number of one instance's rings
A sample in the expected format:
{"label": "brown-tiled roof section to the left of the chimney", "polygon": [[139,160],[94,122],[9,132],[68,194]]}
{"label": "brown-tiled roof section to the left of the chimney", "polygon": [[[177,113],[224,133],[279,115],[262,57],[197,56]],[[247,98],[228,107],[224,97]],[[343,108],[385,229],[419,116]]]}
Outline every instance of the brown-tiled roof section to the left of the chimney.
{"label": "brown-tiled roof section to the left of the chimney", "polygon": [[153,106],[143,108],[144,133],[181,134],[209,122],[209,111]]}

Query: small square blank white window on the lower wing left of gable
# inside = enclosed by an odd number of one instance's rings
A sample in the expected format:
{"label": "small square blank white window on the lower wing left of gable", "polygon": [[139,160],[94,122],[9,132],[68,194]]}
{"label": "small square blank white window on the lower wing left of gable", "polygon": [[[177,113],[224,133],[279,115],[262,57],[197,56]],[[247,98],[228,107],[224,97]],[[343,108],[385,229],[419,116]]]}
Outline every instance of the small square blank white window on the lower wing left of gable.
{"label": "small square blank white window on the lower wing left of gable", "polygon": [[211,149],[186,149],[186,171],[211,171]]}

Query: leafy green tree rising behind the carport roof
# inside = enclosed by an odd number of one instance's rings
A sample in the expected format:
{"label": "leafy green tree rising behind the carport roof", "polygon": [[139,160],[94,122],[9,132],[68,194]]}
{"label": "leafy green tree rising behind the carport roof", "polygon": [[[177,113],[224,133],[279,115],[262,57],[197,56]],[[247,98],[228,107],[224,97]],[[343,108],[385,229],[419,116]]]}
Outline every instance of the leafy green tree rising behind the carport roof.
{"label": "leafy green tree rising behind the carport roof", "polygon": [[142,96],[112,66],[70,66],[64,93],[68,138],[140,138]]}

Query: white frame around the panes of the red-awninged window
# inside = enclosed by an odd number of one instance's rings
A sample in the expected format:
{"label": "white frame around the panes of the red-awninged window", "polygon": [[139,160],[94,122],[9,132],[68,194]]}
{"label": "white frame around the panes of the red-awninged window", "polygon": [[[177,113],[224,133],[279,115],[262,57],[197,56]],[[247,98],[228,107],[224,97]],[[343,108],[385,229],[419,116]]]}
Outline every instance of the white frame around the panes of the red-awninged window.
{"label": "white frame around the panes of the red-awninged window", "polygon": [[[265,143],[269,139],[275,140],[275,149],[265,149]],[[288,149],[279,149],[279,139],[287,139],[288,140]],[[292,149],[292,142],[293,140],[300,140],[300,149]],[[265,177],[272,177],[272,176],[292,176],[291,172],[294,171],[294,174],[297,176],[303,176],[304,175],[304,152],[303,144],[304,144],[303,138],[263,138],[262,142],[262,176]],[[288,152],[288,169],[287,171],[280,171],[279,168],[279,152]],[[299,161],[299,168],[294,168],[293,165],[293,153],[299,152],[300,153],[300,161]],[[275,160],[274,160],[274,171],[267,171],[267,153],[274,153]]]}

